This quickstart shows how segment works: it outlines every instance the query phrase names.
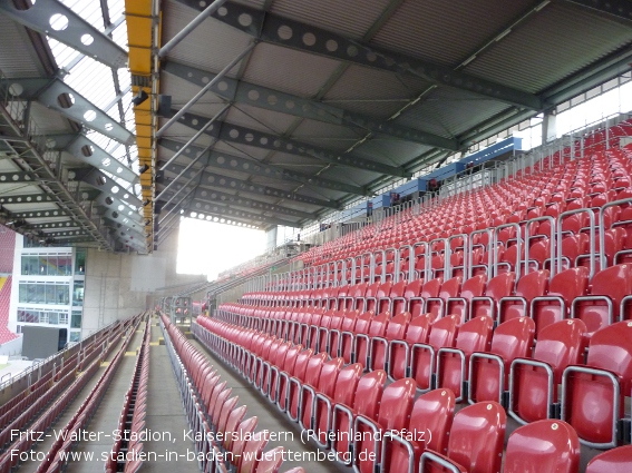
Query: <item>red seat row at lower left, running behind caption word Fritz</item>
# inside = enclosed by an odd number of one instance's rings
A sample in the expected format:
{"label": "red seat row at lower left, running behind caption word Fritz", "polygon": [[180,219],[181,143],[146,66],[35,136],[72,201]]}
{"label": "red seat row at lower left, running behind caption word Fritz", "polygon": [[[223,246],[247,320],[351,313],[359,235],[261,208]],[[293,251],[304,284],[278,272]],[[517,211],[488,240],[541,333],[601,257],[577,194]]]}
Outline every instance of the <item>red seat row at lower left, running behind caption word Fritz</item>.
{"label": "red seat row at lower left, running behind caption word Fritz", "polygon": [[[136,317],[137,318],[137,317]],[[135,318],[135,319],[136,319]],[[108,335],[113,335],[115,338],[120,336],[123,329],[125,327],[129,327],[129,323],[127,324],[117,324],[117,329],[111,331],[111,327],[108,327]],[[101,342],[101,337],[94,337],[95,343],[97,341]],[[114,342],[114,339],[113,339]],[[86,383],[91,378],[91,376],[98,371],[101,361],[114,349],[116,343],[110,343],[105,346],[101,352],[101,357],[94,359],[89,365],[86,365],[81,375],[76,377],[76,372],[70,371],[68,372],[64,378],[68,380],[69,384],[56,400],[48,398],[45,395],[47,402],[50,402],[50,405],[46,407],[46,402],[43,404],[39,404],[36,402],[29,410],[25,413],[25,415],[30,416],[29,421],[20,423],[19,425],[12,425],[7,427],[2,431],[0,435],[9,435],[9,445],[7,446],[4,453],[0,456],[0,473],[9,473],[12,469],[16,469],[20,463],[20,453],[28,452],[32,449],[32,446],[39,441],[38,436],[35,435],[26,435],[27,432],[46,432],[50,428],[50,426],[56,422],[56,420],[61,415],[61,413],[66,410],[68,404],[75,400],[78,393],[84,388]],[[59,382],[61,383],[61,381]],[[94,393],[94,392],[93,392]],[[42,412],[43,410],[43,412]],[[77,420],[77,414],[72,418],[72,421]],[[21,422],[20,417],[18,417],[14,422]],[[41,465],[40,465],[41,466]],[[46,470],[45,470],[46,471]]]}

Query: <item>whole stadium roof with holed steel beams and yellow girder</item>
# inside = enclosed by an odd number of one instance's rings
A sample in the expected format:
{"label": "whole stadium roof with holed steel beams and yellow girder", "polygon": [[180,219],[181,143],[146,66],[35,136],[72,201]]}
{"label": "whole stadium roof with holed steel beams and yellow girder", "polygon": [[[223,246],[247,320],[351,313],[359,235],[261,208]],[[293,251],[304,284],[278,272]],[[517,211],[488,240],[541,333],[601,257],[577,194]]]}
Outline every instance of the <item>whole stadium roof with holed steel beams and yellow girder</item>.
{"label": "whole stadium roof with holed steel beams and yellow girder", "polygon": [[4,221],[150,252],[182,211],[301,227],[554,110],[630,70],[632,2],[0,0],[0,41]]}

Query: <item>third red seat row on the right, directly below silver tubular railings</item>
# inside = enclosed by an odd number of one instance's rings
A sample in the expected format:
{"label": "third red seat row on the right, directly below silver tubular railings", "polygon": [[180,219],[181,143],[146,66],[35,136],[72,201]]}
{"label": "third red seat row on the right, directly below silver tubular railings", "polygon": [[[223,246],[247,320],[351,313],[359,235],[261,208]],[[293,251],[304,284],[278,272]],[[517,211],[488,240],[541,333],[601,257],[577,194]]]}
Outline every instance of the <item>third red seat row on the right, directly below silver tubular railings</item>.
{"label": "third red seat row on the right, directly below silver tubular railings", "polygon": [[[582,319],[589,336],[619,321],[632,318],[632,264],[612,266],[599,272],[590,282],[585,267],[570,268],[550,282],[546,269],[523,276],[516,284],[515,273],[504,273],[487,282],[486,275],[463,282],[460,276],[448,280],[436,278],[410,284],[401,280],[372,285],[318,289],[301,293],[257,293],[242,298],[246,304],[223,304],[220,317],[249,327],[269,329],[270,324],[310,323],[327,309],[373,311],[412,316],[429,313],[432,322],[456,315],[459,323],[476,316],[488,316],[496,324],[521,316],[535,321],[537,333],[565,319]],[[333,325],[332,325],[333,324]],[[314,324],[312,324],[314,325]],[[330,321],[325,328],[338,328]]]}

